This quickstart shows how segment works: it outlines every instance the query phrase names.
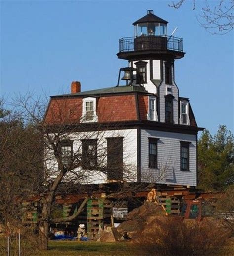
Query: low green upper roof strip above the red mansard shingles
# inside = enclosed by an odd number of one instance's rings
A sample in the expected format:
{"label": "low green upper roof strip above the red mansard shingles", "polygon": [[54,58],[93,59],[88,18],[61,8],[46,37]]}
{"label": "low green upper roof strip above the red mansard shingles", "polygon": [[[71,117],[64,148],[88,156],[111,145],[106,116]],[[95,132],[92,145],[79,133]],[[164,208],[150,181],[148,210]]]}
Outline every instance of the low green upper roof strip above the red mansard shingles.
{"label": "low green upper roof strip above the red mansard shingles", "polygon": [[103,89],[98,89],[98,90],[89,90],[89,91],[81,91],[81,92],[78,92],[78,93],[69,93],[69,94],[56,95],[56,96],[51,96],[51,98],[53,98],[53,97],[69,97],[69,96],[111,94],[111,93],[126,93],[126,92],[134,92],[134,91],[147,93],[147,90],[142,86],[115,86],[115,87],[103,88]]}

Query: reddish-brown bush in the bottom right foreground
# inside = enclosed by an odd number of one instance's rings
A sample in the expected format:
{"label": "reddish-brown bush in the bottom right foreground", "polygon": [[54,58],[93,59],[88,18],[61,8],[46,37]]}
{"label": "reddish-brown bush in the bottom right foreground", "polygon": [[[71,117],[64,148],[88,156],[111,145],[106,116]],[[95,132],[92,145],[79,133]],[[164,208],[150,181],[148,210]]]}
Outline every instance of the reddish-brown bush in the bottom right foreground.
{"label": "reddish-brown bush in the bottom right foreground", "polygon": [[169,216],[153,220],[133,243],[145,255],[214,256],[225,246],[229,235],[220,221],[183,221]]}

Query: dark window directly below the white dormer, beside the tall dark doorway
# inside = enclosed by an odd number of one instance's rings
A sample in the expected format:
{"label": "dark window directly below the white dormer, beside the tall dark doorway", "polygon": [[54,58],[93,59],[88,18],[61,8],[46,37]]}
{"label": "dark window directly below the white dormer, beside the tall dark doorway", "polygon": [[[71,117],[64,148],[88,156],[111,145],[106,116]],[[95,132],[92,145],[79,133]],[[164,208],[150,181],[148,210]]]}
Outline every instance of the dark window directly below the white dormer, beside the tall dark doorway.
{"label": "dark window directly below the white dormer, beside the tall dark doorway", "polygon": [[82,140],[82,167],[90,170],[97,167],[97,139]]}

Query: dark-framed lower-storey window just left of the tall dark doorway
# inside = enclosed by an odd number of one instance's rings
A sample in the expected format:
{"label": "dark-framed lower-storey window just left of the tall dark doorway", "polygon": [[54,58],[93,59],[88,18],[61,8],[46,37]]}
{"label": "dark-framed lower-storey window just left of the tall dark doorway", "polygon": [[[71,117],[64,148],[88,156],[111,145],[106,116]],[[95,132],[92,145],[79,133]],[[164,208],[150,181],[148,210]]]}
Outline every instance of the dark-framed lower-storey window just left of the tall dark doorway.
{"label": "dark-framed lower-storey window just left of the tall dark doorway", "polygon": [[[98,156],[97,156],[97,139],[82,139],[82,168],[86,170],[94,170],[98,164]],[[93,145],[92,145],[93,144]],[[94,146],[94,154],[84,154],[84,152],[88,150],[88,146]],[[88,160],[90,155],[94,158],[94,165],[90,165],[91,160]]]}

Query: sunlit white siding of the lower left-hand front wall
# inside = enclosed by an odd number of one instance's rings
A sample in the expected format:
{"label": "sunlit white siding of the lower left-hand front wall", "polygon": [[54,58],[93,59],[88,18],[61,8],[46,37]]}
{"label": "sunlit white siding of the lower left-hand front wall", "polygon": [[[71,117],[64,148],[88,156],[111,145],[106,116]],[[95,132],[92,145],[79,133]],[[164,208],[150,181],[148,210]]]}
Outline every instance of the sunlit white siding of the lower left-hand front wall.
{"label": "sunlit white siding of the lower left-hand front wall", "polygon": [[[129,182],[137,181],[137,129],[125,129],[125,130],[106,130],[106,131],[94,131],[94,132],[73,132],[68,134],[66,139],[73,140],[73,152],[82,155],[82,139],[98,139],[98,162],[99,165],[107,164],[107,138],[108,137],[123,137],[123,163],[125,168],[125,180]],[[58,165],[50,152],[50,159],[45,161],[47,166],[49,177],[55,178],[58,174]],[[49,151],[48,153],[49,154]],[[78,180],[83,184],[102,184],[107,183],[107,175],[100,173],[99,171],[82,170],[77,168],[74,172],[83,173],[83,178]],[[65,177],[65,180],[71,180],[71,174]],[[76,178],[74,177],[75,181]]]}

